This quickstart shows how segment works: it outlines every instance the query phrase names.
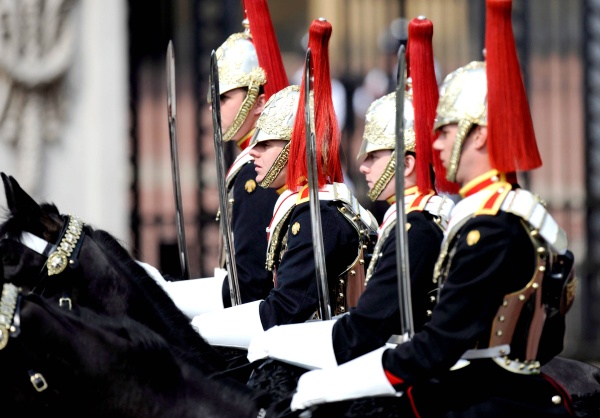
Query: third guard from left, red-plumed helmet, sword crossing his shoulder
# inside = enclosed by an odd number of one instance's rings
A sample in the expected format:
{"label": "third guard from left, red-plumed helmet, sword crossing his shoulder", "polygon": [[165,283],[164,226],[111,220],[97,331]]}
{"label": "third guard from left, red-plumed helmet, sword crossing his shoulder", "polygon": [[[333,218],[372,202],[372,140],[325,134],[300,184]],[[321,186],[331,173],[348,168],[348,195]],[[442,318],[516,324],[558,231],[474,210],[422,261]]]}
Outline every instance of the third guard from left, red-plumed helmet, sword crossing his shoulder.
{"label": "third guard from left, red-plumed helmet, sword crossing his shoulder", "polygon": [[[408,29],[412,86],[419,94],[430,96],[429,100],[413,99],[413,89],[409,88],[404,99],[404,207],[412,314],[414,328],[419,330],[429,321],[434,306],[437,284],[432,280],[433,268],[454,203],[434,192],[430,174],[438,97],[431,46],[433,25],[426,18],[415,18]],[[357,156],[360,171],[369,185],[369,198],[390,204],[377,230],[378,240],[367,269],[365,291],[357,306],[350,308],[350,314],[337,320],[283,325],[257,335],[248,349],[251,361],[270,357],[309,369],[331,367],[379,348],[392,335],[402,333],[394,233],[396,93],[375,100],[365,119]]]}

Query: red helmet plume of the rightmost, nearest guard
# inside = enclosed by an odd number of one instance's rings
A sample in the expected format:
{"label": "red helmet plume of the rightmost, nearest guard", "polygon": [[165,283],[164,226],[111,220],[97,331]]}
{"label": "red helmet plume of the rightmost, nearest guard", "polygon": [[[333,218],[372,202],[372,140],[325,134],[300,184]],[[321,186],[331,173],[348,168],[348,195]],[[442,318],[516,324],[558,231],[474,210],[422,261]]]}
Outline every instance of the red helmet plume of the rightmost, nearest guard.
{"label": "red helmet plume of the rightmost, nearest guard", "polygon": [[512,0],[486,1],[488,149],[498,171],[542,165],[512,30]]}

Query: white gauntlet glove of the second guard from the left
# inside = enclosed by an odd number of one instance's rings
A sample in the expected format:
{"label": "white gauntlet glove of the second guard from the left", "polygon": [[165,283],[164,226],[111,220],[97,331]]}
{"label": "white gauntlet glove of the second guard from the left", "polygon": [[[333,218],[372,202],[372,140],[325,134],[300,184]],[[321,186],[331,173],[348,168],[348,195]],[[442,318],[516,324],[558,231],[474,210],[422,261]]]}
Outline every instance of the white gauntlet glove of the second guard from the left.
{"label": "white gauntlet glove of the second guard from the left", "polygon": [[195,316],[192,326],[211,345],[247,349],[252,337],[263,332],[259,306],[262,300]]}

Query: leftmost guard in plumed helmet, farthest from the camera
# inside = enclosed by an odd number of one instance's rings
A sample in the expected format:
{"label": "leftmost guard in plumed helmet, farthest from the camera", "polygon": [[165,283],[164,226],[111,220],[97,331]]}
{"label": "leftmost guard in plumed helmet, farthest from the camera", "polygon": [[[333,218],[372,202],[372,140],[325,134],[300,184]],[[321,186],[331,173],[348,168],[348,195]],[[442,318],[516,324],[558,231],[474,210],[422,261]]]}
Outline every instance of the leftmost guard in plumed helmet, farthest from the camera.
{"label": "leftmost guard in plumed helmet, farthest from the camera", "polygon": [[[223,141],[235,141],[240,150],[225,184],[242,303],[264,299],[273,288],[273,275],[265,269],[266,228],[278,195],[258,187],[249,145],[267,99],[288,85],[267,0],[245,0],[244,8],[245,30],[229,36],[216,50]],[[214,277],[166,284],[190,318],[232,305],[225,263],[221,248]]]}

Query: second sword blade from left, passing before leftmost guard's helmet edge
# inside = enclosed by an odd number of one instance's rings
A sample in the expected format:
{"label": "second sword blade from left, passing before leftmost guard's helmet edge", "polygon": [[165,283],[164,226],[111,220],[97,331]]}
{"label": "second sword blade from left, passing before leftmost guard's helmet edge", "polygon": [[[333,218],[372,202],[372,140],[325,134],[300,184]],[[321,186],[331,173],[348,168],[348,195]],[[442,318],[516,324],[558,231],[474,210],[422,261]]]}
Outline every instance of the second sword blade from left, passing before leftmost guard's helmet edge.
{"label": "second sword blade from left, passing before leftmost guard's helmet edge", "polygon": [[227,186],[225,184],[225,157],[223,151],[223,132],[221,131],[221,99],[219,94],[219,68],[215,51],[210,55],[210,97],[212,105],[212,121],[215,140],[215,156],[217,159],[217,188],[219,189],[219,211],[221,216],[219,224],[223,236],[223,247],[225,250],[225,264],[227,266],[227,280],[229,281],[229,293],[231,305],[241,305],[240,286],[235,265],[235,251],[233,248],[233,233],[231,231],[231,219],[227,210]]}

